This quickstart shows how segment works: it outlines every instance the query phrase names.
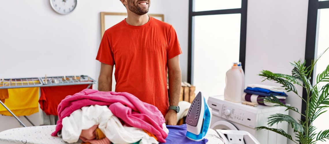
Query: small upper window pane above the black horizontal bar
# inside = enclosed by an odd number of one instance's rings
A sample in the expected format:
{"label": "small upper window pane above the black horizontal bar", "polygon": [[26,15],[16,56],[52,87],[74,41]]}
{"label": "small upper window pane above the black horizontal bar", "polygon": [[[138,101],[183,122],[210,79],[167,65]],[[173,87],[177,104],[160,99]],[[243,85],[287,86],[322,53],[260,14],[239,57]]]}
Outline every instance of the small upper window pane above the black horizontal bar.
{"label": "small upper window pane above the black horizontal bar", "polygon": [[194,0],[194,11],[241,8],[241,0]]}

